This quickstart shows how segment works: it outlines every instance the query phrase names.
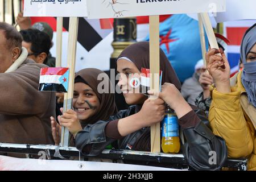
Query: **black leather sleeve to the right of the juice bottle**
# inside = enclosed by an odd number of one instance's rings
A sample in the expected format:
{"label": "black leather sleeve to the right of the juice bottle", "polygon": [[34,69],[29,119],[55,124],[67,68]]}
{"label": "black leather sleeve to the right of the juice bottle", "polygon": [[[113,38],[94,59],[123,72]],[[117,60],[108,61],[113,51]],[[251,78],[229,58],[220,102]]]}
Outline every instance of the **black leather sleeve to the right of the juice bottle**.
{"label": "black leather sleeve to the right of the juice bottle", "polygon": [[183,154],[196,170],[219,170],[228,158],[225,140],[212,133],[204,111],[194,110],[201,119],[195,127],[183,130],[187,142]]}

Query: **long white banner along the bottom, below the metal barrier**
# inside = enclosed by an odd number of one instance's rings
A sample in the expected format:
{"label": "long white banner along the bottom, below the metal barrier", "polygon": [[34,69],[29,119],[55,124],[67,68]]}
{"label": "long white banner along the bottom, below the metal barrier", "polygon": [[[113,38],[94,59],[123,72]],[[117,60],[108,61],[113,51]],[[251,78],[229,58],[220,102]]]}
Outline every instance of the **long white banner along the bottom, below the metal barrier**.
{"label": "long white banner along the bottom, below the metal barrier", "polygon": [[39,152],[39,159],[18,159],[0,155],[0,171],[181,171],[179,169],[85,162],[74,160],[45,160],[46,152]]}

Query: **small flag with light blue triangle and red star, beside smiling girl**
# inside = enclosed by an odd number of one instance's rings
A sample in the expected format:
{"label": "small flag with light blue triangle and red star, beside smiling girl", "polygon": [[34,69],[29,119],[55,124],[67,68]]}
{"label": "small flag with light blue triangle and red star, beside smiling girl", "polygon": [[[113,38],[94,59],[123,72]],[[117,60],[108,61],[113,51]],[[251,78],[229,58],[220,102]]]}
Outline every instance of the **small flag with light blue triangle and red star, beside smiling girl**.
{"label": "small flag with light blue triangle and red star, beside smiling girl", "polygon": [[39,91],[67,92],[69,68],[41,68]]}

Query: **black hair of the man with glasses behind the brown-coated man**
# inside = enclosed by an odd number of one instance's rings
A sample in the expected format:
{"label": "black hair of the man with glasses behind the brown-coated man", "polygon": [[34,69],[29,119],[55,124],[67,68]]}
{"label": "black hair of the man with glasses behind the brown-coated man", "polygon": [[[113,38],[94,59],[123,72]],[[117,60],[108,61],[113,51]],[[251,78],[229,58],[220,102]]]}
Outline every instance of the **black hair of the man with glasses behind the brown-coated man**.
{"label": "black hair of the man with glasses behind the brown-coated man", "polygon": [[24,42],[31,43],[30,49],[34,55],[40,55],[44,52],[48,56],[51,48],[49,35],[36,29],[21,30],[20,34],[23,36]]}

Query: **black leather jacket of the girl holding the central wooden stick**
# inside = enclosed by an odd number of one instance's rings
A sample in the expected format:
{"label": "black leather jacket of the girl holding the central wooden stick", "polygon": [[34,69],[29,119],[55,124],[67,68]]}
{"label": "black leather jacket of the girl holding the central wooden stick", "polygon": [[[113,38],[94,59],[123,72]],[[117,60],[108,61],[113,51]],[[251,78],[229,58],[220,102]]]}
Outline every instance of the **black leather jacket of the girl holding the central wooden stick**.
{"label": "black leather jacket of the girl holding the central wooden stick", "polygon": [[[109,118],[108,121],[98,121],[93,125],[87,125],[76,136],[76,147],[84,155],[97,156],[106,146],[115,140],[105,135],[105,126],[110,121],[128,117],[137,113],[136,106],[130,106],[127,110],[121,110]],[[189,166],[197,170],[217,170],[222,167],[228,158],[228,150],[225,141],[215,136],[209,129],[209,121],[204,111],[194,110],[201,119],[196,127],[183,129],[187,142],[183,145],[183,154]],[[127,143],[131,146],[142,135],[145,128],[118,140],[118,149],[127,149]],[[216,154],[216,158],[214,158]]]}

